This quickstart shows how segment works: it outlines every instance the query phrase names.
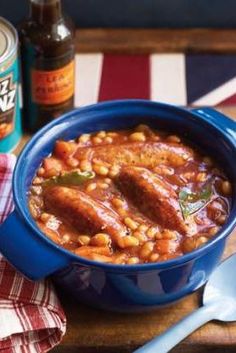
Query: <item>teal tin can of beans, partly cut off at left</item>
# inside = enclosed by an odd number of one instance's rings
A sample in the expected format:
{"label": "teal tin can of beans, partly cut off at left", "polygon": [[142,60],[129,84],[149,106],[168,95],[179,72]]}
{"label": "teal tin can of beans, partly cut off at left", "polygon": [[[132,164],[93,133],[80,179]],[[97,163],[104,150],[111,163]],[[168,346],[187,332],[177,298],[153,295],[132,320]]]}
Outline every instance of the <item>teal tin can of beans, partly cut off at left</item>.
{"label": "teal tin can of beans, partly cut off at left", "polygon": [[21,135],[18,35],[0,17],[0,152],[10,152]]}

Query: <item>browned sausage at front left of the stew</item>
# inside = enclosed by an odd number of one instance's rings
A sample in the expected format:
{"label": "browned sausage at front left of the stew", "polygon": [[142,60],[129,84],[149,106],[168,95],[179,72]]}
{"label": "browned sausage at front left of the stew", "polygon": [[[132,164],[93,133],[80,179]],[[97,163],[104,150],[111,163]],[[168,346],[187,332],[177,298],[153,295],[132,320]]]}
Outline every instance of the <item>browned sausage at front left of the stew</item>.
{"label": "browned sausage at front left of the stew", "polygon": [[115,244],[127,235],[118,214],[77,189],[64,186],[48,187],[44,191],[46,209],[62,218],[82,233],[108,233]]}

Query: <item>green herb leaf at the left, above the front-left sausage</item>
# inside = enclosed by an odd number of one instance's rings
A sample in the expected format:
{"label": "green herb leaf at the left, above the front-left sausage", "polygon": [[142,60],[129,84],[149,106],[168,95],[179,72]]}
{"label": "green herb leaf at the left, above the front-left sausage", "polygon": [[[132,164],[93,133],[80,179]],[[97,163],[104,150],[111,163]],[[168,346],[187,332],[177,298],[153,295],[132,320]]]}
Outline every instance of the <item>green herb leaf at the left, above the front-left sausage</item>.
{"label": "green herb leaf at the left, above the front-left sausage", "polygon": [[45,180],[43,186],[53,185],[81,185],[89,179],[93,179],[95,174],[93,172],[78,172],[73,171],[63,175],[54,176]]}

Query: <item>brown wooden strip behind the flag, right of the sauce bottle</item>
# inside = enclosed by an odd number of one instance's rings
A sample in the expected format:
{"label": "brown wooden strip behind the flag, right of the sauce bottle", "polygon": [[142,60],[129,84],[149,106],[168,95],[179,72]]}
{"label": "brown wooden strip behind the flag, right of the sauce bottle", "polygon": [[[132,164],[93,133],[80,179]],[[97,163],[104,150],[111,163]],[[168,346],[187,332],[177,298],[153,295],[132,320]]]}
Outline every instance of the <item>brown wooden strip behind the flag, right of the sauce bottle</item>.
{"label": "brown wooden strip behind the flag, right of the sauce bottle", "polygon": [[236,29],[78,29],[79,53],[236,53]]}

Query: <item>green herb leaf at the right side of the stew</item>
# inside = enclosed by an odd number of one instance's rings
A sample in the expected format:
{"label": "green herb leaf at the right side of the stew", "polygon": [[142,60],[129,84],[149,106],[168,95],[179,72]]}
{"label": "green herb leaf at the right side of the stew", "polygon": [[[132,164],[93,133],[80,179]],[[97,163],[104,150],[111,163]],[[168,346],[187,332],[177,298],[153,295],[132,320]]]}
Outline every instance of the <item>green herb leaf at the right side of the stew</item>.
{"label": "green herb leaf at the right side of the stew", "polygon": [[201,191],[192,192],[188,188],[183,188],[179,192],[179,205],[186,219],[188,216],[200,211],[211,200],[212,186],[207,184]]}

